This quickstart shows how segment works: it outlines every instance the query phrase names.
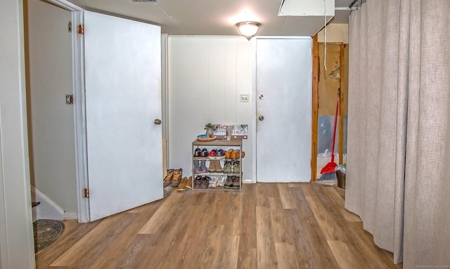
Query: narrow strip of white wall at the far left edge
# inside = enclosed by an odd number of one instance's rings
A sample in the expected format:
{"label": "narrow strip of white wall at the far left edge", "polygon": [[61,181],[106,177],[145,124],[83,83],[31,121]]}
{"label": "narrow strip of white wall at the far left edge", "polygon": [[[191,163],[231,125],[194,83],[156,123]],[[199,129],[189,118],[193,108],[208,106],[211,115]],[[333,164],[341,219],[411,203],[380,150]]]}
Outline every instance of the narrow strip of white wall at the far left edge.
{"label": "narrow strip of white wall at the far left edge", "polygon": [[34,268],[23,1],[0,1],[0,268]]}

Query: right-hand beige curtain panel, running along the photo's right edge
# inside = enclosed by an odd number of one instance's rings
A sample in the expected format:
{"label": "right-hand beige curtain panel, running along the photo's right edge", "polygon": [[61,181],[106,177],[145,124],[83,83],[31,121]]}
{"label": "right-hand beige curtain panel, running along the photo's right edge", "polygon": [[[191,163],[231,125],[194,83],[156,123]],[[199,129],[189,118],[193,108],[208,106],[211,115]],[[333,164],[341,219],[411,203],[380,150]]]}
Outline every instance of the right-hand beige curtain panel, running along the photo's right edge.
{"label": "right-hand beige curtain panel, running along the photo's right edge", "polygon": [[410,10],[404,268],[450,268],[450,1]]}

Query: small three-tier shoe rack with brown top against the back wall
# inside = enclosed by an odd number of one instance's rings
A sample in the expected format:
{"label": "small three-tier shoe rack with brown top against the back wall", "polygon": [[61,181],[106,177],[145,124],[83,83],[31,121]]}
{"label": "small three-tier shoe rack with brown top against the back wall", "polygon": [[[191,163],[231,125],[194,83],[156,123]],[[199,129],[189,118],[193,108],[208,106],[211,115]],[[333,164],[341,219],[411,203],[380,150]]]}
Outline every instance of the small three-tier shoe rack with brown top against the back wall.
{"label": "small three-tier shoe rack with brown top against the back wall", "polygon": [[[194,156],[194,152],[196,148],[200,148],[200,150],[202,150],[203,148],[206,148],[208,150],[208,152],[210,152],[213,149],[221,149],[224,150],[225,152],[227,150],[239,150],[239,152],[242,152],[242,140],[241,139],[236,139],[236,140],[221,140],[221,139],[217,139],[214,141],[207,141],[207,142],[203,142],[203,141],[198,141],[198,140],[194,140],[192,143],[192,190],[241,190],[242,188],[242,157],[239,154],[238,158],[226,158],[223,157],[221,159],[211,159],[210,157],[193,157]],[[195,171],[195,162],[202,162],[205,161],[205,166],[207,166],[208,169],[210,169],[210,164],[211,161],[217,161],[220,164],[220,169],[222,169],[221,172],[217,172],[217,171],[208,171],[208,172],[196,172]],[[217,163],[216,162],[216,163]],[[234,162],[234,163],[238,163],[238,171],[232,171],[231,173],[225,173],[223,171],[225,163],[226,162]],[[221,182],[221,185],[218,185],[214,188],[212,188],[211,185],[208,185],[207,188],[205,188],[205,185],[202,185],[202,187],[200,188],[198,185],[195,184],[196,178],[198,178],[198,176],[203,177],[203,178],[210,178],[210,179],[214,179],[214,178],[223,178],[224,180]],[[235,184],[234,188],[229,188],[226,187],[224,185],[224,181],[226,182],[227,179],[233,178],[233,180],[237,180],[238,181],[238,188],[236,187],[237,184]]]}

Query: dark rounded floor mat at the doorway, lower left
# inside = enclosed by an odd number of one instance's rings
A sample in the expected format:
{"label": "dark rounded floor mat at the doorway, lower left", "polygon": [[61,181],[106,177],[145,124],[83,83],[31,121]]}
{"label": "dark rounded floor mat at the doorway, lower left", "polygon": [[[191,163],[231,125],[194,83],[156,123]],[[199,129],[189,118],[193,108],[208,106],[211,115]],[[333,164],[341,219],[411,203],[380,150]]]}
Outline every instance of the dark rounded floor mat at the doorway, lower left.
{"label": "dark rounded floor mat at the doorway, lower left", "polygon": [[55,242],[64,231],[62,221],[37,220],[33,223],[34,252],[37,253]]}

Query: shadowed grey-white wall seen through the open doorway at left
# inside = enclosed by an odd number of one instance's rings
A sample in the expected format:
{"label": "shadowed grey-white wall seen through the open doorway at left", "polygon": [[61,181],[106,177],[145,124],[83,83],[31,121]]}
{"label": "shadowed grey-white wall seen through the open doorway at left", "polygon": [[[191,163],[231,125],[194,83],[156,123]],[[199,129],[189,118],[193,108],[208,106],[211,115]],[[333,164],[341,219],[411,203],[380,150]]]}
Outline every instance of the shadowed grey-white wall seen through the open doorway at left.
{"label": "shadowed grey-white wall seen through the open doorway at left", "polygon": [[30,114],[34,186],[66,216],[77,216],[72,38],[70,11],[39,0],[28,1]]}

